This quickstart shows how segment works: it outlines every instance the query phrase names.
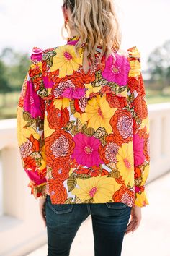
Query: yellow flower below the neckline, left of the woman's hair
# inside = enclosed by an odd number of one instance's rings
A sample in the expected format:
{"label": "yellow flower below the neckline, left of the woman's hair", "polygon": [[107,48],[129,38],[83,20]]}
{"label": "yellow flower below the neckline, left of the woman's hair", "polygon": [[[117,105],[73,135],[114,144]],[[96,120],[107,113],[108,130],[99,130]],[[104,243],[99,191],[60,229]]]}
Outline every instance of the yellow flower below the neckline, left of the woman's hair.
{"label": "yellow flower below the neckline, left of the woman's hair", "polygon": [[74,51],[74,46],[58,46],[55,49],[56,55],[53,57],[53,66],[50,67],[50,71],[53,72],[59,69],[59,77],[65,77],[66,75],[73,74],[73,71],[79,69],[79,64],[82,64],[82,49],[80,48],[77,57]]}

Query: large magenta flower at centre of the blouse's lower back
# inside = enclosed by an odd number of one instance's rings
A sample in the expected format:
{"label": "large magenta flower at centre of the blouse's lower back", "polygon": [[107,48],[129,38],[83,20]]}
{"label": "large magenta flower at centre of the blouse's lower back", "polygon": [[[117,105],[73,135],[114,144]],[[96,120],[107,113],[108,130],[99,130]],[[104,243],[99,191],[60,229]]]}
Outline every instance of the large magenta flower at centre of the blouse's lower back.
{"label": "large magenta flower at centre of the blouse's lower back", "polygon": [[76,146],[71,158],[76,159],[77,163],[87,167],[94,165],[99,166],[100,163],[104,163],[101,158],[99,158],[99,139],[87,137],[80,132],[73,137],[73,140]]}

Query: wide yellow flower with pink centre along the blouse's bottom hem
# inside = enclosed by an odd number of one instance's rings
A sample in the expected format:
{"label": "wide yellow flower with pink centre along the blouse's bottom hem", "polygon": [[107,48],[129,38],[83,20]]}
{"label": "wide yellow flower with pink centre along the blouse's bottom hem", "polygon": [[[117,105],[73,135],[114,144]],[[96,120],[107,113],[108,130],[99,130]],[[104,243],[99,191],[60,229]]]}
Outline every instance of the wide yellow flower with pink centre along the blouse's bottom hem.
{"label": "wide yellow flower with pink centre along the blouse's bottom hem", "polygon": [[71,193],[77,195],[82,202],[93,197],[94,203],[109,202],[109,200],[112,200],[113,193],[121,186],[115,181],[115,178],[106,175],[89,179],[78,178],[77,184],[79,188],[75,187]]}

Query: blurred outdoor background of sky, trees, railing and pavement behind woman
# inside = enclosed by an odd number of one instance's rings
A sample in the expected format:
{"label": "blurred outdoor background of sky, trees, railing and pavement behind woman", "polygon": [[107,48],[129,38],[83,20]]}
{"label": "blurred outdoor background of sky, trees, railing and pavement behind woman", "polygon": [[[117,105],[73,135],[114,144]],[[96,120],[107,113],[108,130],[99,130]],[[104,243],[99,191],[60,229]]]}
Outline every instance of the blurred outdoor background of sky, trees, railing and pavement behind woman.
{"label": "blurred outdoor background of sky, trees, railing and pavement behind woman", "polygon": [[[0,255],[3,256],[47,255],[46,229],[40,219],[38,201],[30,196],[17,148],[16,114],[32,48],[52,48],[66,43],[61,37],[62,2],[0,1]],[[170,30],[167,29],[170,1],[115,2],[122,30],[121,48],[137,46],[140,51],[151,130],[151,171],[146,184],[150,205],[143,208],[143,222],[138,231],[125,237],[122,256],[136,253],[170,256],[167,182],[170,177]],[[87,238],[84,234],[88,232]],[[71,256],[87,253],[92,256],[93,246],[89,216],[76,235]],[[84,255],[82,247],[86,247]]]}

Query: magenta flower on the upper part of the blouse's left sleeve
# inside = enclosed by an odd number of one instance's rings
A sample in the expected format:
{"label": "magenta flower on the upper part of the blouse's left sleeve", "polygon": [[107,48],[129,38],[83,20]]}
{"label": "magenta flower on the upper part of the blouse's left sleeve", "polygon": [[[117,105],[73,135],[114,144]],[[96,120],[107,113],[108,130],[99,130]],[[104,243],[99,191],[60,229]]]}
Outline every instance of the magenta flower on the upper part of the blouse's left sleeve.
{"label": "magenta flower on the upper part of the blouse's left sleeve", "polygon": [[34,90],[31,81],[27,81],[27,93],[24,100],[24,110],[28,111],[32,118],[41,116],[40,111],[40,96]]}

